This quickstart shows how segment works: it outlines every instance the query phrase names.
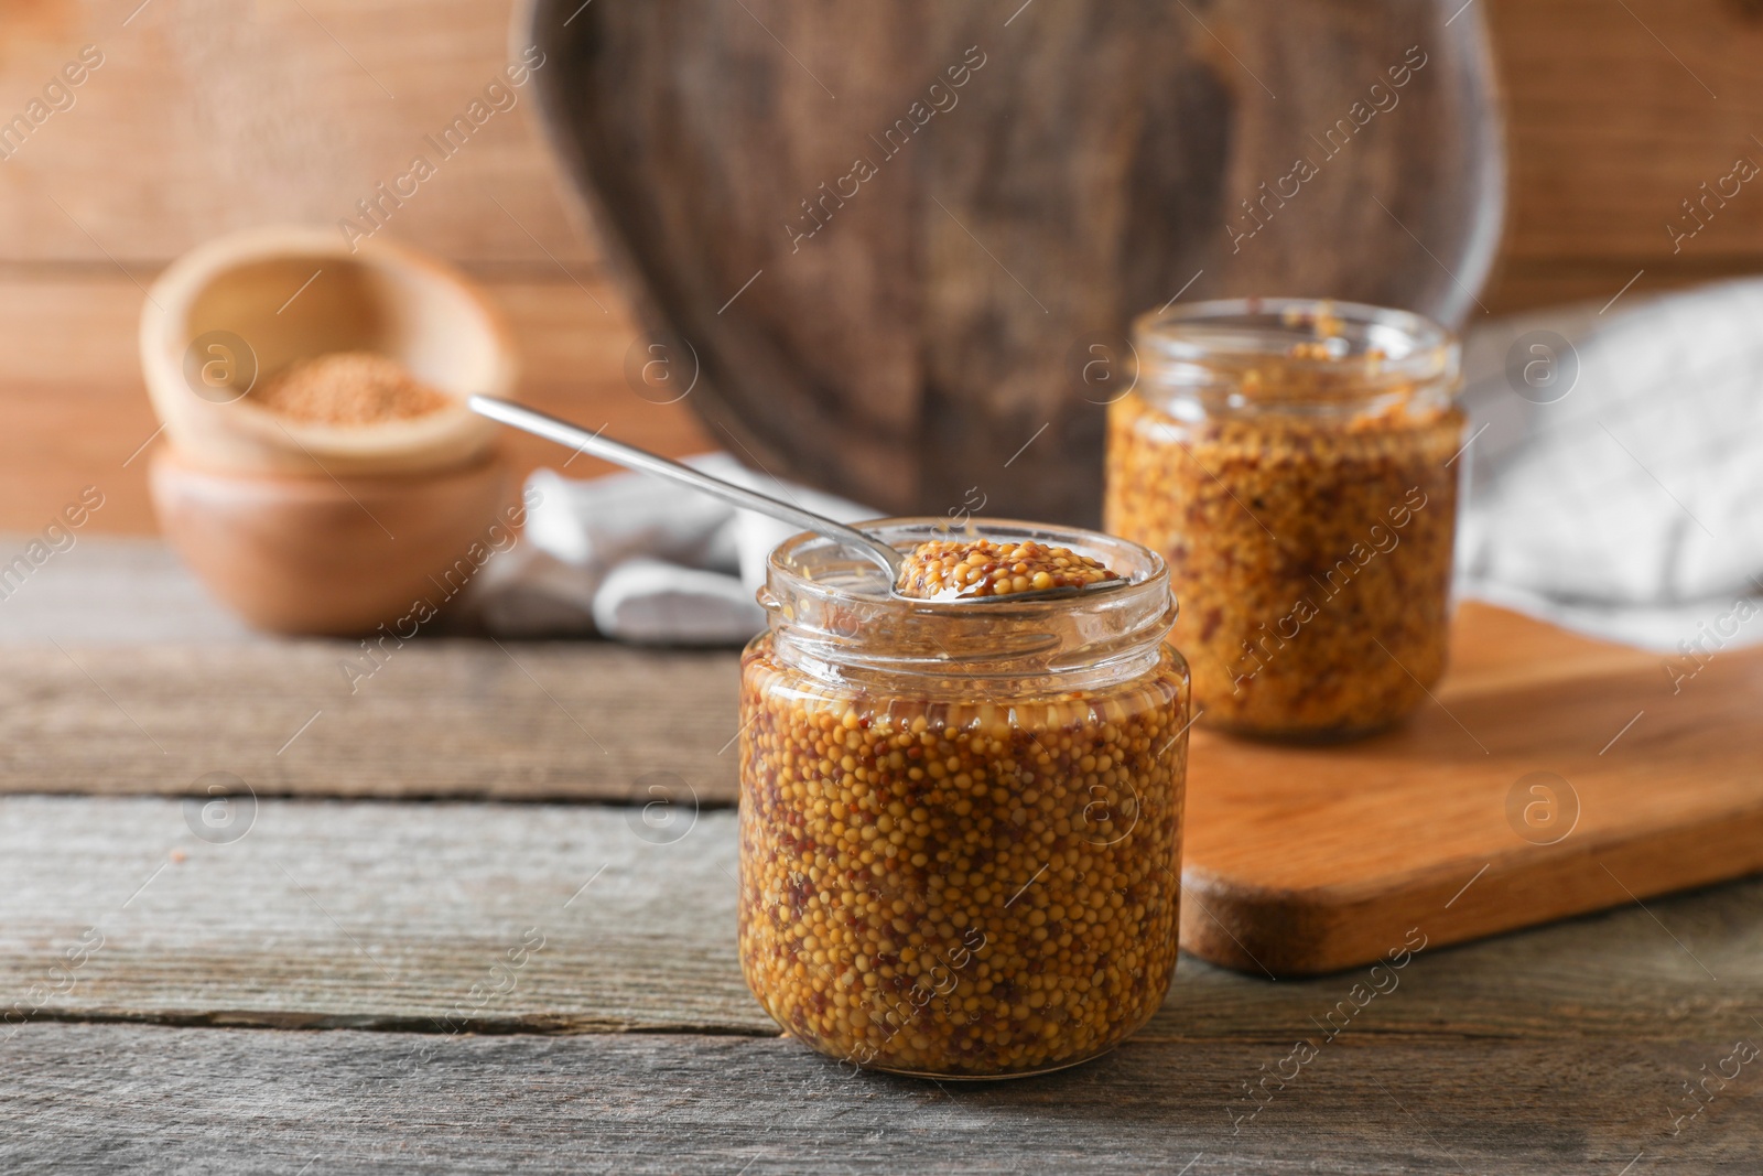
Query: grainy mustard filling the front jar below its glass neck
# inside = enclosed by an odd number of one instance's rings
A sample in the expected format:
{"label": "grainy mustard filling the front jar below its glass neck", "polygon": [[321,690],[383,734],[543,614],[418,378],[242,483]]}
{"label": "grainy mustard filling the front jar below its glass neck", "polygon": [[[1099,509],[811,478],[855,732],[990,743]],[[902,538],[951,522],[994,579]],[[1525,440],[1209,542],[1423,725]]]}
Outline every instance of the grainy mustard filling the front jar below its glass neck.
{"label": "grainy mustard filling the front jar below its glass neck", "polygon": [[[984,1077],[1111,1049],[1176,963],[1186,714],[1167,647],[1105,689],[943,702],[811,677],[760,636],[740,698],[748,986],[864,1067]],[[846,733],[857,769],[829,770]]]}

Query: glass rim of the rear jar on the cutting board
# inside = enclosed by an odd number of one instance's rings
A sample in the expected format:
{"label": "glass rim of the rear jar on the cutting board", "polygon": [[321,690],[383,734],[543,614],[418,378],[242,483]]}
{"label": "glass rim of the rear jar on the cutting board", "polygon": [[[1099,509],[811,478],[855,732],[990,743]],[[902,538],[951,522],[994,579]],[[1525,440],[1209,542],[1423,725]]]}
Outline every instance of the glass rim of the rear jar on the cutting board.
{"label": "glass rim of the rear jar on the cutting board", "polygon": [[[1335,335],[1317,323],[1333,321]],[[1292,354],[1292,346],[1320,340],[1326,354]],[[1379,379],[1425,383],[1454,376],[1460,346],[1453,331],[1412,310],[1333,298],[1215,298],[1151,310],[1134,319],[1134,346],[1160,365],[1227,367],[1280,360],[1296,370],[1340,370],[1377,349]]]}

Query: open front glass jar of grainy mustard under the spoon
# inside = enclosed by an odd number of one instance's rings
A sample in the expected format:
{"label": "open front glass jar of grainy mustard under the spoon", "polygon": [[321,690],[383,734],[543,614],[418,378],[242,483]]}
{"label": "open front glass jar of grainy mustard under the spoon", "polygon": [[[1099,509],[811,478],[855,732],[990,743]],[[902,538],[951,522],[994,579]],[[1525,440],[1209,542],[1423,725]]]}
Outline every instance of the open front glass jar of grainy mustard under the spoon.
{"label": "open front glass jar of grainy mustard under the spoon", "polygon": [[1090,531],[975,532],[1128,584],[903,599],[804,534],[772,554],[770,626],[742,656],[740,966],[781,1026],[859,1067],[1074,1065],[1144,1024],[1176,963],[1188,672],[1164,561]]}

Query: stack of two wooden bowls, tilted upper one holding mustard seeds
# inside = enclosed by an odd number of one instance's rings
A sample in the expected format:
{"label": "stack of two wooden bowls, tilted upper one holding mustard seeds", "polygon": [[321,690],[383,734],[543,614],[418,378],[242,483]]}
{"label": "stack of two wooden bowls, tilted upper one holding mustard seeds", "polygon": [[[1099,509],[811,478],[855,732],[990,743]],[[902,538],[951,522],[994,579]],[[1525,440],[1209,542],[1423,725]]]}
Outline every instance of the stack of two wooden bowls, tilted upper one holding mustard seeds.
{"label": "stack of two wooden bowls, tilted upper one holding mustard seeds", "polygon": [[169,439],[160,529],[256,628],[407,636],[518,522],[495,427],[465,409],[513,388],[513,346],[421,254],[323,229],[220,238],[150,291],[141,365]]}

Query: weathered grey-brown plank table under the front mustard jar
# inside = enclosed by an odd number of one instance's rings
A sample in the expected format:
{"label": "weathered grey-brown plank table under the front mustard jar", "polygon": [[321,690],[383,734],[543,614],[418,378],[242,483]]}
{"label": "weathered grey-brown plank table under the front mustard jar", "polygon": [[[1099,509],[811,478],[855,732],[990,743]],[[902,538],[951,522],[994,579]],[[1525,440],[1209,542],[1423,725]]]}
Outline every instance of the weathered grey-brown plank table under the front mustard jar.
{"label": "weathered grey-brown plank table under the front mustard jar", "polygon": [[1088,1067],[878,1077],[742,986],[732,654],[423,638],[351,693],[99,540],[0,649],[4,1171],[1763,1169],[1763,882],[1423,952],[1333,1038],[1359,975],[1183,957]]}

